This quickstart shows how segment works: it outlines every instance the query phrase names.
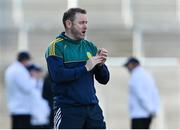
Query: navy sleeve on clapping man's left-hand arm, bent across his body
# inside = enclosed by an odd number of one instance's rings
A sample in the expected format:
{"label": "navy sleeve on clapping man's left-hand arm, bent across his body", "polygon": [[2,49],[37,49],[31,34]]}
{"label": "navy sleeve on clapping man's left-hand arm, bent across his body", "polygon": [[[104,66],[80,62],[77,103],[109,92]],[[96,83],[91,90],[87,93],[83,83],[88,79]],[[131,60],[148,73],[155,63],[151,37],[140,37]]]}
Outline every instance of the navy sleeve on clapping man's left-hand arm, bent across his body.
{"label": "navy sleeve on clapping man's left-hand arm, bent across his body", "polygon": [[48,71],[52,80],[58,82],[69,82],[79,79],[87,73],[85,66],[76,68],[65,68],[63,59],[57,56],[47,57]]}

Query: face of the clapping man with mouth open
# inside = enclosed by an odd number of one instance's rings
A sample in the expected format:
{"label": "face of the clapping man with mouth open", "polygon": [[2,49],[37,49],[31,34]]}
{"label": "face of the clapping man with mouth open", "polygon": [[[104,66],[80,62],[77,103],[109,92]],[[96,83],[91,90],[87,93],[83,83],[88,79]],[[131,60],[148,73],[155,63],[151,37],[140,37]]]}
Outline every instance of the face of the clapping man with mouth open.
{"label": "face of the clapping man with mouth open", "polygon": [[87,15],[77,13],[70,27],[70,32],[75,40],[84,39],[87,31]]}

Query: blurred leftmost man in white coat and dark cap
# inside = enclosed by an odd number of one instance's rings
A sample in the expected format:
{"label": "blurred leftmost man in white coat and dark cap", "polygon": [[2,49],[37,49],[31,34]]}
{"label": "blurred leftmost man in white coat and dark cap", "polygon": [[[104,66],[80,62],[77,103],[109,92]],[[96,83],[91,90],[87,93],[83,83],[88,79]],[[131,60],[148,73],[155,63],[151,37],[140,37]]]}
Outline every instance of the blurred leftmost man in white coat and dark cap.
{"label": "blurred leftmost man in white coat and dark cap", "polygon": [[20,52],[12,65],[5,72],[7,88],[7,104],[11,114],[13,129],[29,129],[31,115],[31,92],[36,81],[33,79],[26,66],[31,60],[28,52]]}

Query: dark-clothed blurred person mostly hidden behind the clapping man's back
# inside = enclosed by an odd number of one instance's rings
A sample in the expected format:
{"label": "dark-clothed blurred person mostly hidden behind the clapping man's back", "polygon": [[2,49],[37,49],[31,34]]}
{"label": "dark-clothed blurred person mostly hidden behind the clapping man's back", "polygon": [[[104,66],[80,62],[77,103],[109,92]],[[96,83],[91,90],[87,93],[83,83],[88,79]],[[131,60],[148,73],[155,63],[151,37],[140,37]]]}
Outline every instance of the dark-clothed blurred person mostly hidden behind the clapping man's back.
{"label": "dark-clothed blurred person mostly hidden behind the clapping man's back", "polygon": [[54,117],[54,112],[53,112],[53,93],[52,93],[52,81],[49,76],[49,73],[46,74],[44,78],[44,83],[43,83],[43,91],[42,91],[42,96],[43,98],[48,102],[49,108],[50,108],[50,116],[49,116],[49,128],[53,128],[53,117]]}

